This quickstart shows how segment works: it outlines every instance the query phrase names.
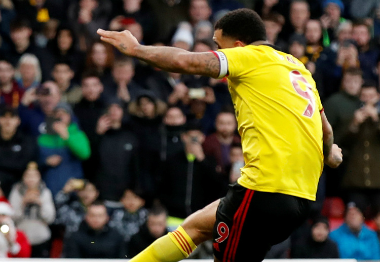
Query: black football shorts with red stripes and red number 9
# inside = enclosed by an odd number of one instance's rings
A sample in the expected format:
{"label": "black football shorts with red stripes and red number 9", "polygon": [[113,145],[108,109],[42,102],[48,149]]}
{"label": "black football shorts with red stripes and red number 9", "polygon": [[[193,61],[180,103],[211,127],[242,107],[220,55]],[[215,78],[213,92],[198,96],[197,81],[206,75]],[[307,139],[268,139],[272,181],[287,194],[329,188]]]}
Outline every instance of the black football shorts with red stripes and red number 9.
{"label": "black football shorts with red stripes and red number 9", "polygon": [[261,261],[308,217],[312,201],[253,191],[235,183],[221,199],[213,230],[214,255],[222,262]]}

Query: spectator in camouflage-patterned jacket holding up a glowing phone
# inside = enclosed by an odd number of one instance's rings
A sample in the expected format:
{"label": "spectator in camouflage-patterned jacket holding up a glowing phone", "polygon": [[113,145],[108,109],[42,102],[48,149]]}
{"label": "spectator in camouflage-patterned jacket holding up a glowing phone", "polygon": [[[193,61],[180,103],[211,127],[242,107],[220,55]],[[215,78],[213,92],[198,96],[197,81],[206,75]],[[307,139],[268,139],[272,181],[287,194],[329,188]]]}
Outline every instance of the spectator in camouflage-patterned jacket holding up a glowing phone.
{"label": "spectator in camouflage-patterned jacket holding up a glowing phone", "polygon": [[57,195],[57,217],[54,224],[63,226],[64,239],[79,230],[88,207],[99,197],[95,184],[88,180],[70,178]]}

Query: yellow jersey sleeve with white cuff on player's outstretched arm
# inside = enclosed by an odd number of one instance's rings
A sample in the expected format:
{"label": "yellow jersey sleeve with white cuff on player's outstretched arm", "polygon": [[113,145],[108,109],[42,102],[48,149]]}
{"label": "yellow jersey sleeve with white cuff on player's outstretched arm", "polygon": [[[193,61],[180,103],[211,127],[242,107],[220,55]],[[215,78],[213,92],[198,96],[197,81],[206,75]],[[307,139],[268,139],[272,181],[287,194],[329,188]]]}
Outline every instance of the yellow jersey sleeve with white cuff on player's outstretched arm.
{"label": "yellow jersey sleeve with white cuff on player's outstretched arm", "polygon": [[219,59],[220,63],[218,78],[236,78],[242,76],[248,67],[252,68],[250,67],[252,60],[249,61],[247,52],[243,47],[219,49],[212,52]]}

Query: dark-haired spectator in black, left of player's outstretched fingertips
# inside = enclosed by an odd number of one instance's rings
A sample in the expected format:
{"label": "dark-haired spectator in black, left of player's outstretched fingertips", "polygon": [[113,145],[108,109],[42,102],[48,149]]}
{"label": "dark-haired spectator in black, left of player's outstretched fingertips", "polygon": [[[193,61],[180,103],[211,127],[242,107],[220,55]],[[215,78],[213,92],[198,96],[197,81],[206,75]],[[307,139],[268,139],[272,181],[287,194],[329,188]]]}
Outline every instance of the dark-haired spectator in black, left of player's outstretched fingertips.
{"label": "dark-haired spectator in black, left of player's outstretched fingertips", "polygon": [[47,45],[47,51],[52,61],[52,65],[57,62],[65,62],[74,71],[75,81],[80,80],[80,74],[84,69],[85,53],[78,51],[77,38],[71,27],[60,24],[57,28],[55,38]]}

